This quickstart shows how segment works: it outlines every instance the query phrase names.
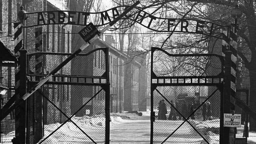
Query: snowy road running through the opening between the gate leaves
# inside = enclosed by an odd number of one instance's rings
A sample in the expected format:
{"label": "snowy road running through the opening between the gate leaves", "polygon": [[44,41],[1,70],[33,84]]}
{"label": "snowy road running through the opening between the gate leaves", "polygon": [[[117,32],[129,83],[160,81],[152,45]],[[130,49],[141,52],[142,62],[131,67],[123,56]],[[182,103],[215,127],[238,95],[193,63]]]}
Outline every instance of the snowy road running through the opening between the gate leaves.
{"label": "snowy road running through the opening between the gate leaves", "polygon": [[[139,120],[125,120],[110,125],[111,144],[148,144],[150,143],[149,116]],[[183,121],[156,120],[154,122],[154,143],[162,143]],[[188,124],[183,124],[165,143],[200,144],[203,138]]]}

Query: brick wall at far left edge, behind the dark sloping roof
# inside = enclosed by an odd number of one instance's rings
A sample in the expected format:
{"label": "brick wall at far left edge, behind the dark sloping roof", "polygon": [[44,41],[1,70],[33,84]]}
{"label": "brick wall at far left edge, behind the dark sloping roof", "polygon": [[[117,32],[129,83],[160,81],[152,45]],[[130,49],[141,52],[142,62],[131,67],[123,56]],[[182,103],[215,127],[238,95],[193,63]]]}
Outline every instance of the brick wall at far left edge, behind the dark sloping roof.
{"label": "brick wall at far left edge, behind the dark sloping roof", "polygon": [[[14,28],[13,23],[17,22],[17,11],[20,10],[16,0],[0,0],[0,37],[1,41],[6,45],[6,47],[14,53]],[[1,61],[1,60],[0,60]],[[2,95],[1,107],[11,98],[14,94],[14,67],[1,67],[0,66],[0,83],[7,86],[10,90]],[[8,133],[14,131],[14,112],[8,115],[2,121],[2,128],[0,129],[3,133]]]}

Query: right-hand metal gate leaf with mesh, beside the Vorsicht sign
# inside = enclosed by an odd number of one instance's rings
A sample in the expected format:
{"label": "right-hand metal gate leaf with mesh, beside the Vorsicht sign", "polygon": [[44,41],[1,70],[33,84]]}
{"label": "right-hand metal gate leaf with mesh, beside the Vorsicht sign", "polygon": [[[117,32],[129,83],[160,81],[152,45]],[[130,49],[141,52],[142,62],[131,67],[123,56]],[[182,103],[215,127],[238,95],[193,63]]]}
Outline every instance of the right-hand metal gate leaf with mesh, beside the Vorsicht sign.
{"label": "right-hand metal gate leaf with mesh, beside the Vorsicht sign", "polygon": [[150,143],[219,143],[223,57],[151,49]]}

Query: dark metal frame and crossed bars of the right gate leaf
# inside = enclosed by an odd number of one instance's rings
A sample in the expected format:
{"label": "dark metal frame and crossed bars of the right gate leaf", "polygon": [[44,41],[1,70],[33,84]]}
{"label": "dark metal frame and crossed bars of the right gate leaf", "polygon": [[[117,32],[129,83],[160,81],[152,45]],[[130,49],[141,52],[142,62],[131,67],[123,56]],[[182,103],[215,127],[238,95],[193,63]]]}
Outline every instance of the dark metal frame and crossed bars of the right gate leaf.
{"label": "dark metal frame and crossed bars of the right gate leaf", "polygon": [[[164,52],[165,54],[167,54],[168,56],[170,57],[179,57],[179,56],[216,56],[220,59],[221,61],[221,73],[217,76],[156,76],[156,74],[154,73],[153,71],[153,60],[154,60],[154,52],[158,50],[158,51],[162,51]],[[185,122],[188,122],[188,119],[190,118],[190,116],[192,116],[197,109],[199,109],[203,104],[204,102],[206,102],[209,98],[211,98],[211,96],[217,91],[217,90],[220,90],[220,141],[222,141],[223,137],[221,136],[222,134],[222,131],[223,131],[223,82],[222,80],[224,79],[224,58],[223,56],[220,56],[220,55],[217,55],[217,54],[170,54],[168,52],[166,52],[165,50],[163,49],[160,49],[160,48],[157,48],[157,47],[152,47],[151,48],[151,78],[150,78],[150,87],[151,87],[151,116],[150,116],[150,144],[153,144],[153,134],[154,134],[154,122],[155,122],[155,116],[154,116],[154,91],[156,90],[156,92],[158,92],[175,110],[176,112],[178,112],[184,119],[185,121],[182,123],[184,124]],[[163,83],[159,83],[159,79],[164,79],[164,82]],[[165,83],[166,79],[169,79],[170,80],[170,83]],[[177,83],[172,83],[172,79],[175,79],[177,80]],[[179,83],[179,79],[183,79],[183,83]],[[185,80],[186,79],[191,79],[190,80],[190,83],[185,83]],[[198,83],[193,83],[192,82],[192,79],[198,79]],[[204,83],[200,83],[199,82],[199,79],[204,79]],[[212,83],[207,83],[206,80],[207,79],[212,79]],[[213,79],[219,79],[219,82],[217,83],[214,83],[213,82]],[[153,83],[153,80],[156,80],[155,83]],[[183,116],[179,110],[177,108],[175,108],[171,102],[169,100],[167,100],[164,95],[159,92],[157,90],[157,87],[158,86],[216,86],[217,89],[198,107],[194,110],[194,112],[192,114],[190,114],[187,118],[185,116]],[[180,126],[182,125],[180,124]],[[189,125],[192,126],[191,123],[188,122]],[[179,126],[179,127],[180,127]],[[162,143],[164,143],[169,137],[171,137],[171,135],[177,131],[178,128],[176,128],[176,130],[174,130]],[[205,140],[205,138],[192,126],[192,128]],[[207,142],[207,140],[205,140]],[[209,143],[209,142],[207,142]]]}

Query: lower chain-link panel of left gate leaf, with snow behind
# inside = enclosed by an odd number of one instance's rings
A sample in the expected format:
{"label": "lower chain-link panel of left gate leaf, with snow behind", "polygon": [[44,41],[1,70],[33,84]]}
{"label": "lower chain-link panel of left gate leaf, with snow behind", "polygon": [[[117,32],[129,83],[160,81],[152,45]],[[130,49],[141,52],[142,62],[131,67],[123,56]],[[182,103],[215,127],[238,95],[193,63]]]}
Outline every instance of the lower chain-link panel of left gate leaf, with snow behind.
{"label": "lower chain-link panel of left gate leaf, with snow behind", "polygon": [[105,143],[101,86],[45,84],[39,93],[44,103],[44,138],[39,143]]}

